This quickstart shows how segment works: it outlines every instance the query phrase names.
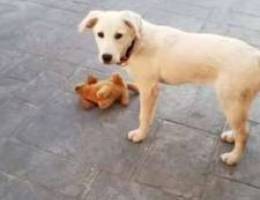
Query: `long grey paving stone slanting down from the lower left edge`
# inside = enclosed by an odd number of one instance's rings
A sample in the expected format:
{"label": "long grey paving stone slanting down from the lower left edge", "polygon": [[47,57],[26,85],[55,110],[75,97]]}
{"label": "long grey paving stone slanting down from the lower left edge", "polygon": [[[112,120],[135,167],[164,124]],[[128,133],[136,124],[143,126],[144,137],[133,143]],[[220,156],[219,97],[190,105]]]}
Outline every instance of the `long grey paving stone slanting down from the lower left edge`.
{"label": "long grey paving stone slanting down from the lower left edge", "polygon": [[77,197],[97,170],[56,155],[39,151],[15,139],[0,142],[0,169],[44,188]]}

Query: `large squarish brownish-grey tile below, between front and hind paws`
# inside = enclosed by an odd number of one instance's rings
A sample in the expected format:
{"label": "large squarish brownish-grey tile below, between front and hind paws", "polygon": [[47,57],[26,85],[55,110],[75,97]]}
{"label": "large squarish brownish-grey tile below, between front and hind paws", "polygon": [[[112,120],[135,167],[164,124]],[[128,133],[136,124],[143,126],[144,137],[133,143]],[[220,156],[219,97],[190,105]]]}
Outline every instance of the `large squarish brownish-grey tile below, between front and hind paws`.
{"label": "large squarish brownish-grey tile below, between front and hind paws", "polygon": [[187,199],[198,198],[215,147],[214,137],[167,122],[156,136],[135,179]]}

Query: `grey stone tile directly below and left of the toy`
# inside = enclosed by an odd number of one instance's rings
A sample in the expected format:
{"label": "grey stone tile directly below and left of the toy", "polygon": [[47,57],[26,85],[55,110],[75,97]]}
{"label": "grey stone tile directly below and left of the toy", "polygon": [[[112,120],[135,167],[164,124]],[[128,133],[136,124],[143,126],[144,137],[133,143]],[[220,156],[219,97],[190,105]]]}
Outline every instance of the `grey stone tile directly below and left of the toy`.
{"label": "grey stone tile directly below and left of the toy", "polygon": [[76,95],[58,92],[48,100],[37,115],[16,132],[21,141],[70,157],[81,143],[79,112]]}

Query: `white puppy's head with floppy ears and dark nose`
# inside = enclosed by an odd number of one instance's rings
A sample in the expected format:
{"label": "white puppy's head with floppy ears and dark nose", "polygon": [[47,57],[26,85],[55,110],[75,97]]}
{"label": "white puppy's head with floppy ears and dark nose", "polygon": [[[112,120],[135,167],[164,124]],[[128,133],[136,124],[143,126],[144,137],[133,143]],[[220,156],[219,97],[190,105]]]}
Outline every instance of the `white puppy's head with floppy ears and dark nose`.
{"label": "white puppy's head with floppy ears and dark nose", "polygon": [[91,11],[79,24],[79,31],[92,29],[104,64],[123,64],[141,37],[140,15],[132,11]]}

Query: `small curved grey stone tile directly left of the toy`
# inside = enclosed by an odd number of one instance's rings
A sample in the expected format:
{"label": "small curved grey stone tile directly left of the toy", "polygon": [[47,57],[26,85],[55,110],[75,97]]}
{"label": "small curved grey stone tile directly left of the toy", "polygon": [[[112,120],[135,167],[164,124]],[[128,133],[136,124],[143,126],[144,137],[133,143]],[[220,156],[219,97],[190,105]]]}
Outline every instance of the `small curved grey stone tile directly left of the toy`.
{"label": "small curved grey stone tile directly left of the toy", "polygon": [[42,106],[59,91],[71,91],[68,80],[54,72],[43,72],[25,87],[15,91],[14,95],[36,106]]}

